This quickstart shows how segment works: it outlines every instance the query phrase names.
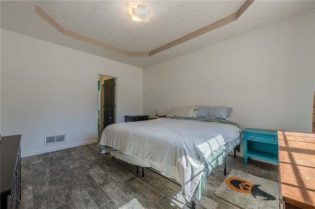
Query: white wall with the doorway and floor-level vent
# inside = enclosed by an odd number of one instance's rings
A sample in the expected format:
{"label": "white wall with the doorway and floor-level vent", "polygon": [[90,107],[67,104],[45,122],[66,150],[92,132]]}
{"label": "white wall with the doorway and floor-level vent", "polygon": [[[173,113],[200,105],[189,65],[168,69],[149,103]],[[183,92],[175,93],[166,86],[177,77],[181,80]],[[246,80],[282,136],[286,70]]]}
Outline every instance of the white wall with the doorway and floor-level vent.
{"label": "white wall with the doorway and floor-level vent", "polygon": [[142,113],[141,68],[1,29],[1,135],[22,134],[23,157],[96,142],[98,74],[117,78],[118,122]]}

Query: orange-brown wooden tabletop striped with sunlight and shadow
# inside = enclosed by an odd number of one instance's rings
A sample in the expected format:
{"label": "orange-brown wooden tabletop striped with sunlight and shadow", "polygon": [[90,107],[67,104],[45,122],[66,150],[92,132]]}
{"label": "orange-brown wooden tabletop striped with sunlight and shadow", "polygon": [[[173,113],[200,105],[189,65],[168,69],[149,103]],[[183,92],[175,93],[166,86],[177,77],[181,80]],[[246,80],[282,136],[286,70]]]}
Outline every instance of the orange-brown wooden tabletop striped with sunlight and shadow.
{"label": "orange-brown wooden tabletop striped with sunlight and shadow", "polygon": [[278,146],[281,203],[315,208],[315,134],[278,131]]}

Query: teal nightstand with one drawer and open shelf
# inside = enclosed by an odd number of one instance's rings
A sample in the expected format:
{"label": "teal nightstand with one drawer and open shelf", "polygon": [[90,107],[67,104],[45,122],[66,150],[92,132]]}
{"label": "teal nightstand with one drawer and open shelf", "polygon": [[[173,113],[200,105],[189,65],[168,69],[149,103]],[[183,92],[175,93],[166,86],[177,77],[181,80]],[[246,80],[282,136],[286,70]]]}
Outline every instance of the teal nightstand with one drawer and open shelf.
{"label": "teal nightstand with one drawer and open shelf", "polygon": [[254,157],[278,163],[277,131],[261,129],[244,129],[244,164]]}

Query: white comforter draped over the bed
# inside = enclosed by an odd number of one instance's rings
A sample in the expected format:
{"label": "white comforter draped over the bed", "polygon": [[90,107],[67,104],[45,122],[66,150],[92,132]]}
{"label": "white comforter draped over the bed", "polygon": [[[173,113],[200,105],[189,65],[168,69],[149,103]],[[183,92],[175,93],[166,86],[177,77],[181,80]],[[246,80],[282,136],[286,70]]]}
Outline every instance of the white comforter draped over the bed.
{"label": "white comforter draped over the bed", "polygon": [[99,144],[139,157],[175,179],[189,202],[205,169],[205,158],[237,138],[239,131],[227,124],[158,118],[107,126]]}

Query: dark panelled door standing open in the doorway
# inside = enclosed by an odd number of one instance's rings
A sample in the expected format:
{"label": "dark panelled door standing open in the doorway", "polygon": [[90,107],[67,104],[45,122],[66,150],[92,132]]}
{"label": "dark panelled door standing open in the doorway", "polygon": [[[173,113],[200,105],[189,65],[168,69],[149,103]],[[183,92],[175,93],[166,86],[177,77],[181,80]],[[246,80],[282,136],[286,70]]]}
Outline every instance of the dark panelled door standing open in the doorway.
{"label": "dark panelled door standing open in the doorway", "polygon": [[104,80],[104,129],[115,121],[115,78]]}

